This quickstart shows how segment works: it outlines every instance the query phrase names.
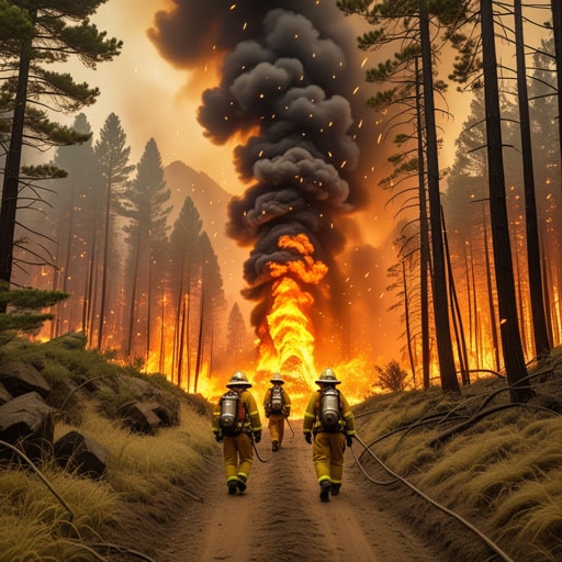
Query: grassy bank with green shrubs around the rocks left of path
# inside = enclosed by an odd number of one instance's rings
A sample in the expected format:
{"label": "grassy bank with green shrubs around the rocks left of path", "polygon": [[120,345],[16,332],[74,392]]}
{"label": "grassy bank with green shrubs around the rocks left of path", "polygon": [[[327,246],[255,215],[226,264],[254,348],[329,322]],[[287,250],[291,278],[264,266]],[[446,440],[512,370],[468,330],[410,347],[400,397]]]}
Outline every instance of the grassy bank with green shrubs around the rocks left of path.
{"label": "grassy bank with green shrubs around the rocks left of path", "polygon": [[[117,560],[116,553],[130,550],[119,537],[126,535],[123,525],[132,515],[143,510],[149,518],[157,498],[178,496],[200,472],[214,443],[209,405],[161,375],[147,378],[97,351],[68,349],[57,340],[13,340],[0,348],[0,361],[13,359],[33,362],[50,384],[47,402],[57,409],[55,439],[79,429],[106,450],[108,469],[102,480],[94,481],[68,473],[49,459],[37,467],[38,474],[23,463],[0,467],[0,561]],[[128,396],[101,392],[86,400],[86,394],[71,390],[72,382],[76,389],[79,381],[119,376],[148,379],[159,390],[180,396],[180,424],[154,436],[135,435],[112,415]],[[63,404],[65,409],[58,409]]]}

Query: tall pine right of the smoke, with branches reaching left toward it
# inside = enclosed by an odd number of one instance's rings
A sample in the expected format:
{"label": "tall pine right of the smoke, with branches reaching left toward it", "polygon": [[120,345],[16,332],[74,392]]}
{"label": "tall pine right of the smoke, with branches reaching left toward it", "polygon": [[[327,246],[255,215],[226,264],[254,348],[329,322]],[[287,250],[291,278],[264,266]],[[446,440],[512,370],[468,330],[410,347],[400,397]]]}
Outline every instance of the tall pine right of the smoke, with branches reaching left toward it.
{"label": "tall pine right of the smoke, with branches reaching left toward it", "polygon": [[[413,130],[413,132],[402,136],[402,144],[408,138],[423,139],[423,143],[419,142],[416,147],[416,156],[409,161],[407,161],[404,154],[397,156],[396,168],[411,173],[412,167],[409,164],[415,162],[419,171],[420,190],[425,189],[423,182],[427,181],[434,281],[434,321],[441,387],[446,392],[460,394],[449,326],[448,281],[441,233],[435,93],[436,91],[442,91],[443,87],[434,78],[436,72],[434,61],[439,50],[436,46],[437,43],[431,41],[431,24],[453,25],[453,22],[462,20],[463,4],[457,0],[437,2],[340,0],[338,5],[347,13],[359,13],[370,23],[379,25],[359,38],[361,48],[366,50],[376,49],[383,45],[394,43],[401,45],[401,49],[394,59],[386,60],[380,64],[378,69],[368,72],[368,78],[370,77],[373,81],[391,83],[390,90],[379,92],[378,97],[370,100],[370,102],[380,106],[383,104],[392,105],[396,100],[400,100],[400,103],[406,108],[404,112],[400,113],[400,119],[407,121]],[[419,101],[418,92],[420,92],[422,101]],[[393,117],[396,117],[396,115],[393,115]],[[420,201],[424,201],[425,204],[424,198],[420,198]],[[425,216],[424,213],[420,213],[420,215]],[[426,269],[427,261],[424,261],[422,270],[425,272]]]}

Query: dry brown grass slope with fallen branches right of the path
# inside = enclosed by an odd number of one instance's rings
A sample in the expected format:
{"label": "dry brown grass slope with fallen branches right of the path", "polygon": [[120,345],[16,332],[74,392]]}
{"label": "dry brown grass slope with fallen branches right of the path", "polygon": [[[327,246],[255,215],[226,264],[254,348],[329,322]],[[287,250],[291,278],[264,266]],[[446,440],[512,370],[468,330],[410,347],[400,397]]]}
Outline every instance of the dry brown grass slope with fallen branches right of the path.
{"label": "dry brown grass slope with fallen branches right of the path", "polygon": [[[394,472],[486,530],[514,560],[559,561],[562,416],[555,408],[542,409],[542,404],[560,404],[560,362],[548,381],[533,382],[541,407],[531,403],[497,411],[441,445],[435,441],[470,419],[504,385],[497,379],[482,381],[463,389],[461,400],[439,400],[436,390],[427,392],[425,402],[419,393],[407,392],[373,397],[357,408],[359,434]],[[483,407],[507,401],[501,392]]]}

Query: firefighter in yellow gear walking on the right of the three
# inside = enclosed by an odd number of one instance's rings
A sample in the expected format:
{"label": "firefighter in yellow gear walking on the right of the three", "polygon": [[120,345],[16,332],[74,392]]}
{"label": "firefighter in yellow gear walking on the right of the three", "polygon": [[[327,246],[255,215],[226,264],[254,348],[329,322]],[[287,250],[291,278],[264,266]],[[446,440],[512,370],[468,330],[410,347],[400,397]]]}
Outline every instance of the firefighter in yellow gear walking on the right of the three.
{"label": "firefighter in yellow gear walking on the right of the three", "polygon": [[353,414],[346,396],[336,389],[338,381],[333,369],[324,369],[315,391],[306,406],[303,432],[306,442],[313,446],[313,462],[321,486],[321,501],[329,502],[337,496],[344,473],[344,451],[351,447],[356,435]]}

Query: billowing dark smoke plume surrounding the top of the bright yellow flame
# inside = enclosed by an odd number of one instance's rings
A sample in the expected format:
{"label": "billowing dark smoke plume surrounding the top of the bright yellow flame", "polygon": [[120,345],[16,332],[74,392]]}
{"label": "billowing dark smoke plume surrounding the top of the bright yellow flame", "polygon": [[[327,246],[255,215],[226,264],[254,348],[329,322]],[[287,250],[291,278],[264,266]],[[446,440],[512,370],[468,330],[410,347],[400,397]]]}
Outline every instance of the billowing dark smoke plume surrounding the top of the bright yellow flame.
{"label": "billowing dark smoke plume surrounding the top of the bright yellow flame", "polygon": [[[334,352],[349,322],[337,256],[347,216],[368,202],[371,168],[367,158],[359,167],[372,131],[356,95],[364,80],[356,32],[334,2],[175,0],[149,36],[178,68],[218,69],[198,120],[213,143],[239,140],[233,159],[247,188],[231,202],[227,233],[250,248],[244,294],[256,303],[261,345],[272,344],[268,324],[285,277],[304,295],[299,322]],[[281,364],[294,359],[273,346]]]}

